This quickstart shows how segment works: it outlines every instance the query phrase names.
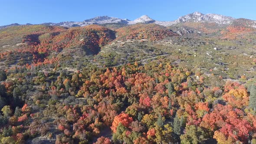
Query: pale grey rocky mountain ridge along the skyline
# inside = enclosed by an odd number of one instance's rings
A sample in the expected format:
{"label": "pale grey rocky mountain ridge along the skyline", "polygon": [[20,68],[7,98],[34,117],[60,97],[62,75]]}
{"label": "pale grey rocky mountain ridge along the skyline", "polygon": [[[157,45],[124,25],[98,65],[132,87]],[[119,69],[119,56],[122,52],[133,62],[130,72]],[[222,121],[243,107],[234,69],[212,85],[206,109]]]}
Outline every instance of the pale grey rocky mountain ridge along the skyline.
{"label": "pale grey rocky mountain ridge along the skyline", "polygon": [[[97,16],[95,18],[84,20],[82,22],[61,22],[61,23],[42,23],[42,25],[48,26],[64,26],[64,27],[75,27],[75,26],[87,26],[91,24],[126,24],[132,25],[136,23],[155,23],[161,26],[172,26],[179,23],[186,23],[186,22],[199,22],[199,23],[217,23],[219,25],[230,25],[236,23],[242,23],[245,26],[256,28],[256,21],[255,20],[248,20],[248,19],[235,19],[230,16],[223,16],[219,14],[203,14],[200,12],[194,12],[187,14],[185,16],[179,17],[177,20],[174,21],[157,21],[151,19],[149,16],[144,15],[141,16],[133,21],[128,19],[119,19],[116,17],[109,17],[109,16]],[[1,28],[9,27],[9,26],[19,26],[18,23],[13,23],[6,26],[0,26]],[[26,25],[31,25],[27,23]]]}

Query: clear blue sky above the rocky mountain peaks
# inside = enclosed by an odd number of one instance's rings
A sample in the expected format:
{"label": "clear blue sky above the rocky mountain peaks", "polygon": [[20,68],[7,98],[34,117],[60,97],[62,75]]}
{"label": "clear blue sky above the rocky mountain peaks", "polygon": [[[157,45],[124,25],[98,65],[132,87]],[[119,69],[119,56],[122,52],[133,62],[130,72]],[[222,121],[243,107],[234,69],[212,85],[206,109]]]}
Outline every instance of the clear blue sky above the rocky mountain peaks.
{"label": "clear blue sky above the rocky mountain peaks", "polygon": [[83,21],[95,16],[171,21],[199,11],[256,20],[256,0],[0,0],[0,26]]}

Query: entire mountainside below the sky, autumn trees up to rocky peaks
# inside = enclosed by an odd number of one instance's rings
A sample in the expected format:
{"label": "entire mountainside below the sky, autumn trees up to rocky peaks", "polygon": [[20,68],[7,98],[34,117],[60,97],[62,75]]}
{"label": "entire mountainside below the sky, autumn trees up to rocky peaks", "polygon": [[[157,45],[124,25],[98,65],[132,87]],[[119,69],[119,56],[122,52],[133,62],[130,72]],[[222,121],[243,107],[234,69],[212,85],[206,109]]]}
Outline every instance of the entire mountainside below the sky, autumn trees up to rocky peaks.
{"label": "entire mountainside below the sky, autumn trees up to rocky peaks", "polygon": [[256,141],[253,20],[14,24],[0,68],[1,144]]}

